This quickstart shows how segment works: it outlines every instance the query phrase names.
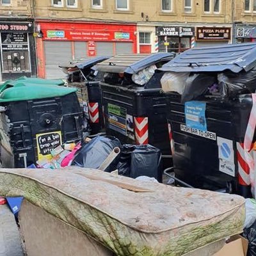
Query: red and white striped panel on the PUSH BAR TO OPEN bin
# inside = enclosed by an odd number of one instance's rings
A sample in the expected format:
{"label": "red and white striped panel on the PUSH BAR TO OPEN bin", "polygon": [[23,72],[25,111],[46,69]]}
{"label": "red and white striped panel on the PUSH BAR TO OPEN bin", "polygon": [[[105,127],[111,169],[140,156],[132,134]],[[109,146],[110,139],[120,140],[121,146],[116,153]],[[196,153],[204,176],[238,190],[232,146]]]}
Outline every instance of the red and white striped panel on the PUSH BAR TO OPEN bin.
{"label": "red and white striped panel on the PUSH BAR TO OPEN bin", "polygon": [[[243,143],[236,143],[238,161],[238,180],[240,185],[250,186],[250,166],[248,165],[248,163],[246,163],[243,146]],[[250,154],[252,154],[252,151]]]}

